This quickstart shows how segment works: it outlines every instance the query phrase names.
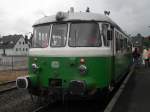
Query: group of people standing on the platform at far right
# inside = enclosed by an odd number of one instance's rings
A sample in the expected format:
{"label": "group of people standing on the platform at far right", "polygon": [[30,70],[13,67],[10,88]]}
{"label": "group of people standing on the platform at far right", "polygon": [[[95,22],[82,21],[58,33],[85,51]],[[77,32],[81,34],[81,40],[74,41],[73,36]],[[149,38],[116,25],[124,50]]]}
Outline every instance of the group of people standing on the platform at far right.
{"label": "group of people standing on the platform at far right", "polygon": [[[141,55],[142,54],[142,55]],[[144,49],[143,53],[139,52],[138,48],[135,48],[133,53],[133,62],[137,65],[140,63],[140,60],[143,60],[143,64],[145,65],[145,67],[150,67],[150,48],[149,49]]]}

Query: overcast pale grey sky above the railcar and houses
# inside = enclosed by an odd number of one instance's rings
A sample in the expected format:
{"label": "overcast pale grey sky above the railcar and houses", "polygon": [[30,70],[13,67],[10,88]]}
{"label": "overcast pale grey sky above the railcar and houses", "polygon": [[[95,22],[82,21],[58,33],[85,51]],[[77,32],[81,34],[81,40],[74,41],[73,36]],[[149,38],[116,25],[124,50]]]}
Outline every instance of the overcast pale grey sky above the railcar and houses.
{"label": "overcast pale grey sky above the railcar and houses", "polygon": [[150,0],[0,0],[0,34],[27,34],[33,23],[58,11],[111,12],[110,17],[131,35],[150,35]]}

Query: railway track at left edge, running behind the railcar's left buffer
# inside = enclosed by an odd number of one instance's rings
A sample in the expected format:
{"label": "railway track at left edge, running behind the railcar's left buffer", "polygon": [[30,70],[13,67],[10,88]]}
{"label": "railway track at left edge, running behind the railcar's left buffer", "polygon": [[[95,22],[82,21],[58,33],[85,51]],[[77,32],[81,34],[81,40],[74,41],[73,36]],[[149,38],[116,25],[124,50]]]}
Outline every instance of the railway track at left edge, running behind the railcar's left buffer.
{"label": "railway track at left edge, running behind the railcar's left buffer", "polygon": [[9,81],[0,84],[0,94],[17,89],[16,81]]}

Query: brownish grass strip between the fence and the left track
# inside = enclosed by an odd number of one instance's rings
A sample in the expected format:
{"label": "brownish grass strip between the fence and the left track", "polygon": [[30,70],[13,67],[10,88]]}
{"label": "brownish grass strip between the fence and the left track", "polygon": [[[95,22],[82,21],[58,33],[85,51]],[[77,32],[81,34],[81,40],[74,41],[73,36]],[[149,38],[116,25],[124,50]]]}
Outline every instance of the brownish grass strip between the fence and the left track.
{"label": "brownish grass strip between the fence and the left track", "polygon": [[28,71],[0,71],[0,83],[16,80],[19,76],[25,76]]}

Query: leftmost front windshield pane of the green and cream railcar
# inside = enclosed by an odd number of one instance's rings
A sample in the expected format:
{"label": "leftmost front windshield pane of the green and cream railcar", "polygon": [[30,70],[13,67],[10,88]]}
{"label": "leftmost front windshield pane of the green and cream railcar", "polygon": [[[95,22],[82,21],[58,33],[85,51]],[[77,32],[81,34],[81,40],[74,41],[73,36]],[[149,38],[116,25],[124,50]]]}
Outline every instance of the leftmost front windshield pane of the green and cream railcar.
{"label": "leftmost front windshield pane of the green and cream railcar", "polygon": [[50,25],[37,26],[34,28],[32,39],[33,48],[46,48],[49,42]]}

